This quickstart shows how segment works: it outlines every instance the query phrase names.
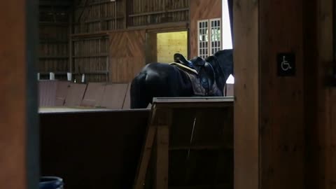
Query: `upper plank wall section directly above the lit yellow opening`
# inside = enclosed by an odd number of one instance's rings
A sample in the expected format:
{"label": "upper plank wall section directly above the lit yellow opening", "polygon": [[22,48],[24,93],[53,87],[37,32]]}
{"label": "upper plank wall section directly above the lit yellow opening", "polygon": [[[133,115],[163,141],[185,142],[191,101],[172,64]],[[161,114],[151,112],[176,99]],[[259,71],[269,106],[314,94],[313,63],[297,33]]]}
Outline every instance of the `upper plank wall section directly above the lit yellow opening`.
{"label": "upper plank wall section directly above the lit yellow opening", "polygon": [[132,4],[128,10],[130,27],[189,20],[188,0],[130,0],[127,3]]}

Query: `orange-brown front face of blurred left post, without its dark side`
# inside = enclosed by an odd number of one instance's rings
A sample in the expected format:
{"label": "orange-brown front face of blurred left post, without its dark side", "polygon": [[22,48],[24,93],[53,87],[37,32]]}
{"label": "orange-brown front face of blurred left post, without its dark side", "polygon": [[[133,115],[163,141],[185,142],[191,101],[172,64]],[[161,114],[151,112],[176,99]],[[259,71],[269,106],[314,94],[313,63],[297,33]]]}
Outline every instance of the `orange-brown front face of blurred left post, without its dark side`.
{"label": "orange-brown front face of blurred left post, without its dark side", "polygon": [[0,2],[0,188],[27,188],[25,6]]}

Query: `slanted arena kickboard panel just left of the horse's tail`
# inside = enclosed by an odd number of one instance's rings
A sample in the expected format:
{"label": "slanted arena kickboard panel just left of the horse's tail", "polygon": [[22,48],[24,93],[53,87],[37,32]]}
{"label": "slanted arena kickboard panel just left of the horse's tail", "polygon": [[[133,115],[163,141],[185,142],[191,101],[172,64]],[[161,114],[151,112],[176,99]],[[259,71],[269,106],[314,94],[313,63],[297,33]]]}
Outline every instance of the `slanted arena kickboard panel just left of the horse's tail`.
{"label": "slanted arena kickboard panel just left of the horse's tail", "polygon": [[105,86],[100,106],[107,109],[123,109],[128,83],[112,83]]}

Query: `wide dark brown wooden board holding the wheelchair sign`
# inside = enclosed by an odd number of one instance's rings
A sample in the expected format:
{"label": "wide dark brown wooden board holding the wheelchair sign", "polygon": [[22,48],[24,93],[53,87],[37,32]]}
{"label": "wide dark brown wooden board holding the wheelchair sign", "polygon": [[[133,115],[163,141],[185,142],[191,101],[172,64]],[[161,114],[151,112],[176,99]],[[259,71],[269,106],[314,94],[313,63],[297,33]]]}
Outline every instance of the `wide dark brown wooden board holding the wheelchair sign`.
{"label": "wide dark brown wooden board holding the wheelchair sign", "polygon": [[[261,188],[304,188],[303,3],[259,5]],[[276,76],[281,52],[295,53],[295,76]]]}

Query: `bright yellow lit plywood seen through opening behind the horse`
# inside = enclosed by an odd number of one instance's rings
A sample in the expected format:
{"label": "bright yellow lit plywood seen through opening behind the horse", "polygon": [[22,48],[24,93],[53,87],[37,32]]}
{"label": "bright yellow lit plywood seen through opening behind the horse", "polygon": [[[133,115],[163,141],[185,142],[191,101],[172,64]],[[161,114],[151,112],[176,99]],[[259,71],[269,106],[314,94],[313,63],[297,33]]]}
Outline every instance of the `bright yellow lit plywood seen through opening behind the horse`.
{"label": "bright yellow lit plywood seen through opening behind the horse", "polygon": [[176,31],[157,34],[158,62],[174,62],[176,52],[188,56],[188,32]]}

